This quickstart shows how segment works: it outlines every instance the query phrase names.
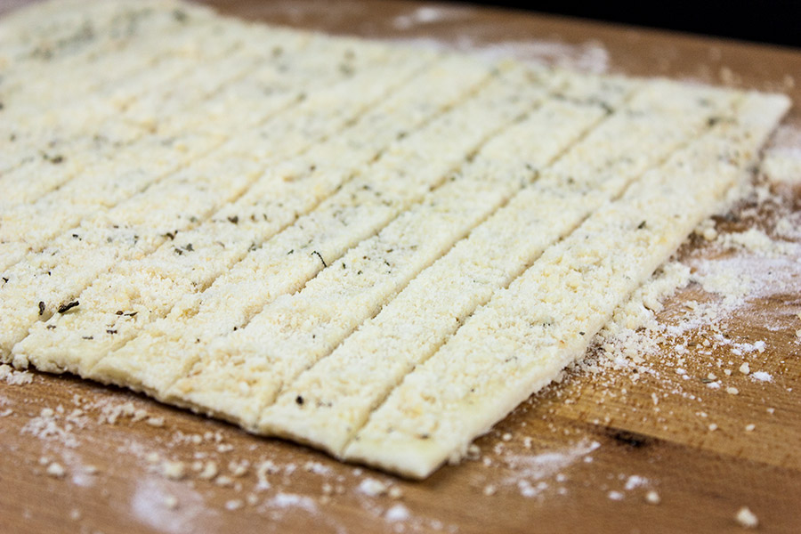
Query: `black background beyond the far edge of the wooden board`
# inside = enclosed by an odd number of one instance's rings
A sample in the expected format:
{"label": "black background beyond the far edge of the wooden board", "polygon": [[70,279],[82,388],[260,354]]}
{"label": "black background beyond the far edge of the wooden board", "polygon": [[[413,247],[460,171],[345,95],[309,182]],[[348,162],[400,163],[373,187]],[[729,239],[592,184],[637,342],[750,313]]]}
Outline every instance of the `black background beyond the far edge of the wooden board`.
{"label": "black background beyond the far edge of the wooden board", "polygon": [[473,0],[468,3],[513,7],[535,12],[801,47],[801,0],[764,0],[761,2],[758,0],[753,2]]}

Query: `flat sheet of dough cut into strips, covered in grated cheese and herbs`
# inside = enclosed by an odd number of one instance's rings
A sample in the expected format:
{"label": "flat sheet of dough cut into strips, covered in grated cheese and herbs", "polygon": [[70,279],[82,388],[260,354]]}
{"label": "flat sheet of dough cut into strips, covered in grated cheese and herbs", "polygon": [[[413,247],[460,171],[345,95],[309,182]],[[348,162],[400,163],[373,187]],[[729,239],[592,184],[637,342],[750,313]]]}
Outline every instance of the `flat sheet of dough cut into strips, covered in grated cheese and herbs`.
{"label": "flat sheet of dough cut into strips, covered in grated cheese and herbs", "polygon": [[0,362],[424,478],[587,351],[782,95],[68,0],[0,20]]}

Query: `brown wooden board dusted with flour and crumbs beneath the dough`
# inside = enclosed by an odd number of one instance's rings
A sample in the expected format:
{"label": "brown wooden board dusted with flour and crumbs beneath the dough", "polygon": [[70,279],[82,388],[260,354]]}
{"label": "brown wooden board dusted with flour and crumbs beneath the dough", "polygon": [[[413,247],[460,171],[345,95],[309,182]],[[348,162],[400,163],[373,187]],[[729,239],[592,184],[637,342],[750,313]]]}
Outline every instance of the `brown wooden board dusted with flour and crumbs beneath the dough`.
{"label": "brown wooden board dusted with flour and crumbs beneath the dough", "polygon": [[[12,4],[24,2],[0,9]],[[458,5],[212,4],[298,28],[781,91],[795,108],[774,143],[801,150],[797,50]],[[717,230],[770,234],[780,217],[801,221],[798,183],[740,204]],[[725,262],[727,254],[694,238],[680,259]],[[760,290],[714,328],[691,329],[682,349],[661,342],[636,378],[614,366],[568,373],[477,441],[475,459],[423,482],[72,376],[0,381],[0,531],[725,532],[742,529],[734,516],[748,506],[759,530],[799,532],[801,256],[738,261]],[[692,301],[715,298],[691,285],[659,320],[680,324]],[[720,343],[707,348],[705,339]],[[737,351],[771,379],[740,373]],[[718,390],[708,387],[712,368],[724,377]],[[659,504],[648,502],[651,491]]]}

